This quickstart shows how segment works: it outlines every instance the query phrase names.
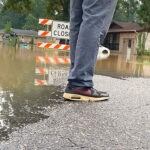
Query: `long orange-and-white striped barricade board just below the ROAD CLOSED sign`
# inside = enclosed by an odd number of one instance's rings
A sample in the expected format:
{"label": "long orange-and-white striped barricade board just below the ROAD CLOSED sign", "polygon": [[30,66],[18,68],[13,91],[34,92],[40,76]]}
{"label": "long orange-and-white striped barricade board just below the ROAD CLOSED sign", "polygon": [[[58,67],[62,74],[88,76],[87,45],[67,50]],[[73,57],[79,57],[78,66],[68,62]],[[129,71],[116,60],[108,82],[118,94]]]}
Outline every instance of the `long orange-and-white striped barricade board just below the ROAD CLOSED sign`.
{"label": "long orange-and-white striped barricade board just below the ROAD CLOSED sign", "polygon": [[54,44],[54,43],[43,43],[38,42],[37,46],[40,48],[51,48],[51,49],[59,49],[59,50],[70,50],[70,45],[63,44]]}

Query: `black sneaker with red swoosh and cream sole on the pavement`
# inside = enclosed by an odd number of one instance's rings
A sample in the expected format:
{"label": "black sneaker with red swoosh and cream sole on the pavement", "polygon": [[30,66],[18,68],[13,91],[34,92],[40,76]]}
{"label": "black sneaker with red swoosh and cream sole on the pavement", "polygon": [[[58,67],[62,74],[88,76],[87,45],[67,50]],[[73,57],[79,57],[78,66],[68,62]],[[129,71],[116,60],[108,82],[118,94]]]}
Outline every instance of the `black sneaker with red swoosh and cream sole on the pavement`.
{"label": "black sneaker with red swoosh and cream sole on the pavement", "polygon": [[94,88],[67,85],[63,98],[73,101],[104,101],[109,99],[109,95]]}

